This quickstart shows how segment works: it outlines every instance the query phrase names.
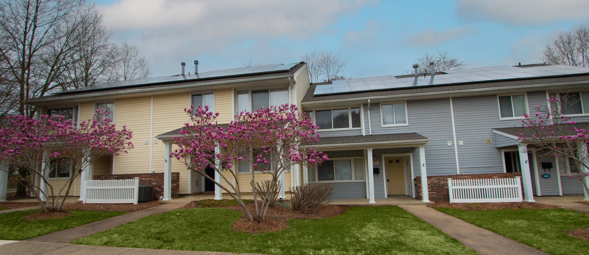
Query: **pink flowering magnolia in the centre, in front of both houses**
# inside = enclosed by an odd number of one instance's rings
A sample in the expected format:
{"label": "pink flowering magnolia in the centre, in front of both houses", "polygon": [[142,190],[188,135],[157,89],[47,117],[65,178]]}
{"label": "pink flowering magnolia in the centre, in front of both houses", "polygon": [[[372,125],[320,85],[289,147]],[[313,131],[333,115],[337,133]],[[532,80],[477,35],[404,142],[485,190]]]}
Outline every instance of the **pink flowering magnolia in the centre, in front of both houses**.
{"label": "pink flowering magnolia in the centre, in front of both houses", "polygon": [[[186,123],[180,135],[174,137],[178,149],[170,154],[186,165],[187,169],[203,175],[225,190],[245,210],[250,221],[266,220],[273,190],[280,185],[279,176],[297,167],[317,166],[327,160],[313,144],[319,141],[317,126],[299,112],[295,105],[272,106],[268,109],[241,112],[226,128],[217,125],[219,113],[209,108],[184,109],[192,122]],[[255,212],[250,212],[241,199],[238,167],[253,171],[250,186],[256,184],[254,173],[264,173],[269,179],[267,194],[254,195]],[[206,169],[214,169],[221,179],[209,176]],[[250,192],[250,190],[247,190]],[[261,200],[259,203],[259,199]]]}

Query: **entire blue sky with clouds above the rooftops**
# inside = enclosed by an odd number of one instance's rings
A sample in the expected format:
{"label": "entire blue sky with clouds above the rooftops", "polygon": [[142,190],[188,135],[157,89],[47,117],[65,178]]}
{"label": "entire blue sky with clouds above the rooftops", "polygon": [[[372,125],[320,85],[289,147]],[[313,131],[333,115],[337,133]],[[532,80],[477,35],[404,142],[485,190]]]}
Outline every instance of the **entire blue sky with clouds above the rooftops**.
{"label": "entire blue sky with clouds above the rooftops", "polygon": [[[154,76],[299,62],[332,51],[346,76],[401,75],[423,53],[448,51],[469,68],[540,63],[558,33],[589,25],[589,1],[98,1],[115,41],[127,39]],[[571,8],[571,6],[575,6]],[[188,68],[188,70],[191,70]]]}

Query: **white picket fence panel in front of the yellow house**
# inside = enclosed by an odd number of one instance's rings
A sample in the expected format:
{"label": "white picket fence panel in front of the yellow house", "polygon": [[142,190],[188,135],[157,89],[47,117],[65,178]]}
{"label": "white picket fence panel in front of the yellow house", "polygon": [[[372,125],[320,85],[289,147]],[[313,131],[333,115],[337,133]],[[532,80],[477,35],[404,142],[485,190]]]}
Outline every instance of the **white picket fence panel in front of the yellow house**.
{"label": "white picket fence panel in front of the yellow house", "polygon": [[137,204],[139,177],[127,180],[84,179],[86,188],[83,203],[89,204]]}

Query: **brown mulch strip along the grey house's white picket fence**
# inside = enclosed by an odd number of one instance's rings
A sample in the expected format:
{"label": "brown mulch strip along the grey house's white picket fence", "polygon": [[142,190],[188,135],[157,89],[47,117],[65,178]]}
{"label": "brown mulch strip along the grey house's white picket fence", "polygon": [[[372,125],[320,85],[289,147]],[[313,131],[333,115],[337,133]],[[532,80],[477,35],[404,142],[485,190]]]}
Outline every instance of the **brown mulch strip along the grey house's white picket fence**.
{"label": "brown mulch strip along the grey house's white picket fence", "polygon": [[549,206],[548,204],[530,203],[530,202],[505,202],[505,203],[450,203],[449,201],[437,201],[435,204],[428,204],[427,207],[436,208],[452,208],[471,211],[484,210],[500,210],[500,209],[514,209],[520,208],[528,209],[557,209],[556,206]]}

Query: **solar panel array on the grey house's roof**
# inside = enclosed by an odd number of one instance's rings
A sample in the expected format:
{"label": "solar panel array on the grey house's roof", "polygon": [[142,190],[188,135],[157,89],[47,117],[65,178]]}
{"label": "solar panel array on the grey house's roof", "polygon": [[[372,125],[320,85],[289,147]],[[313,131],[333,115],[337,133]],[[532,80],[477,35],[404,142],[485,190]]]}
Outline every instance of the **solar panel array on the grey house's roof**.
{"label": "solar panel array on the grey house's roof", "polygon": [[419,76],[397,79],[395,76],[377,76],[347,80],[333,80],[332,84],[317,85],[313,95],[346,93],[376,89],[393,89],[425,85],[442,85],[461,82],[478,82],[482,80],[501,80],[552,75],[589,73],[589,68],[567,65],[535,66],[518,68],[517,66],[491,66],[444,71],[444,75]]}

